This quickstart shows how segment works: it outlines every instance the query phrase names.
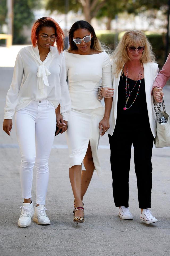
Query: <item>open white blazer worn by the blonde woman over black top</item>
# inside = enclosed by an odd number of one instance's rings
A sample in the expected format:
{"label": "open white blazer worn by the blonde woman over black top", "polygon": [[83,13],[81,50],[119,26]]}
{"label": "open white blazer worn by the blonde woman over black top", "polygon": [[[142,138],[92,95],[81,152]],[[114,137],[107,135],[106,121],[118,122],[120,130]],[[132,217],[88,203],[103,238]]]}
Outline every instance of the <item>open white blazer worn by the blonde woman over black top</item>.
{"label": "open white blazer worn by the blonde woman over black top", "polygon": [[[110,135],[113,135],[113,131],[116,125],[116,118],[117,118],[118,85],[119,85],[122,70],[119,72],[118,77],[116,77],[116,75],[113,74],[116,68],[116,65],[113,60],[111,60],[111,64],[112,64],[112,82],[113,82],[113,88],[114,88],[114,96],[113,96],[112,109],[111,109],[110,119],[109,119],[110,128],[108,129],[107,132]],[[153,96],[151,95],[151,90],[152,90],[152,86],[155,81],[155,78],[158,75],[159,69],[158,69],[158,64],[155,62],[144,63],[143,68],[144,68],[145,92],[146,92],[146,103],[147,103],[149,123],[150,123],[152,134],[155,138],[156,115],[154,114]],[[144,115],[143,115],[143,120],[141,120],[141,123],[143,125],[143,129],[145,129]]]}

